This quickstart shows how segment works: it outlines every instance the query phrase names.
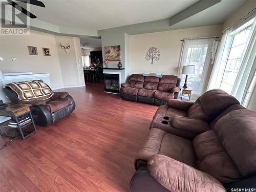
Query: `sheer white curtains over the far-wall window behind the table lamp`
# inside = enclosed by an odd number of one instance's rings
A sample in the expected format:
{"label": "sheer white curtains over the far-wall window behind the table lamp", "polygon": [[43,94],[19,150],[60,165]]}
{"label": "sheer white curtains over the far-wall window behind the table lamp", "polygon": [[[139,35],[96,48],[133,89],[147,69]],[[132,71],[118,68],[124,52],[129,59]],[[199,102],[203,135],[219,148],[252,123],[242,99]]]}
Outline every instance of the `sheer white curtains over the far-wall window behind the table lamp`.
{"label": "sheer white curtains over the far-wall window behind the table lamp", "polygon": [[178,76],[181,78],[181,86],[185,81],[185,75],[181,74],[183,66],[196,66],[194,75],[188,75],[188,87],[194,94],[201,94],[204,89],[208,72],[212,47],[215,38],[190,38],[183,41],[182,53],[179,63]]}

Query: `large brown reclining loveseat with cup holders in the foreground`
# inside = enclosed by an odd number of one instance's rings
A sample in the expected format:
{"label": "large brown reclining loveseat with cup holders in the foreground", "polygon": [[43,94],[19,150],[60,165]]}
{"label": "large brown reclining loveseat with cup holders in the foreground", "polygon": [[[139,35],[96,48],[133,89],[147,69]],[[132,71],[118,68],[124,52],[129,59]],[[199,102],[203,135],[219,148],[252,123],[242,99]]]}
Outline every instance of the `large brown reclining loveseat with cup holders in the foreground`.
{"label": "large brown reclining loveseat with cup holders in the foreground", "polygon": [[170,99],[141,145],[130,191],[256,188],[255,136],[256,112],[222,90],[195,103]]}

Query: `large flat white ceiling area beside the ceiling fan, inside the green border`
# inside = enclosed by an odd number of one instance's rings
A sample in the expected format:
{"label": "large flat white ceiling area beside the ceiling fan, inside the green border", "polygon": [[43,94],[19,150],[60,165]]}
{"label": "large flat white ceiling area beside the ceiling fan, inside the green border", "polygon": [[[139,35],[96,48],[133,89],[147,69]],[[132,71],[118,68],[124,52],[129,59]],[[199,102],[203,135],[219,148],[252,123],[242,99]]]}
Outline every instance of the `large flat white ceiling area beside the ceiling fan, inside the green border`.
{"label": "large flat white ceiling area beside the ceiling fan, inside the green border", "polygon": [[[106,29],[173,16],[199,0],[40,0],[31,5],[38,19],[58,25]],[[236,0],[234,0],[236,1]]]}

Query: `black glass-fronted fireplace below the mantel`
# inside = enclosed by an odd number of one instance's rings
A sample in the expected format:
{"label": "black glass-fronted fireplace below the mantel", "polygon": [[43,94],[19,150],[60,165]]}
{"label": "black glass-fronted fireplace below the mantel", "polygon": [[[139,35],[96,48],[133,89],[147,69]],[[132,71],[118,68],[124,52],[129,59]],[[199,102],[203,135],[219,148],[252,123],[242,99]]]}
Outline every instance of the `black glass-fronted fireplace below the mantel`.
{"label": "black glass-fronted fireplace below the mantel", "polygon": [[104,73],[104,91],[119,94],[119,74]]}

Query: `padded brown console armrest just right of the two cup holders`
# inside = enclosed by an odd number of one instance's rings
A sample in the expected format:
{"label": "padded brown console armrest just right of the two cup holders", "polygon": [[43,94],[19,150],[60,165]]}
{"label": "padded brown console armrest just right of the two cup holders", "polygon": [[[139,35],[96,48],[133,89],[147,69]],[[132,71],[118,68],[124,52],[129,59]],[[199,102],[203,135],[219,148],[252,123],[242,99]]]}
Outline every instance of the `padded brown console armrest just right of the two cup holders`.
{"label": "padded brown console armrest just right of the two cup holders", "polygon": [[206,121],[182,116],[174,116],[172,118],[172,126],[178,130],[194,133],[195,135],[211,130]]}

